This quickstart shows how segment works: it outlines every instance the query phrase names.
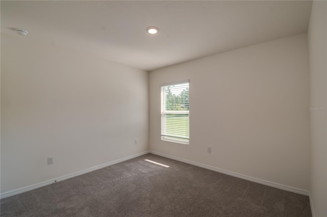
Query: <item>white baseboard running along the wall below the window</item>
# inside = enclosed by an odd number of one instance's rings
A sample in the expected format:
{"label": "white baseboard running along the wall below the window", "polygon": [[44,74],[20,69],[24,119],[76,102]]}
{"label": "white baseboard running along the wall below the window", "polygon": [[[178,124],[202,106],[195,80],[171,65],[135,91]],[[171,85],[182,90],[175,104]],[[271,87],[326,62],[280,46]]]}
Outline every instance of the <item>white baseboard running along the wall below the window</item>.
{"label": "white baseboard running along the wall below the window", "polygon": [[186,159],[171,156],[171,155],[168,155],[168,154],[162,154],[162,153],[156,152],[156,151],[150,151],[150,153],[151,154],[156,154],[156,155],[159,155],[159,156],[162,156],[162,157],[167,157],[167,158],[170,158],[170,159],[178,160],[178,161],[181,161],[181,162],[185,162],[186,164],[191,164],[191,165],[194,165],[194,166],[197,166],[197,167],[202,167],[202,168],[205,168],[205,169],[208,169],[208,170],[213,170],[213,171],[216,171],[216,172],[219,172],[219,173],[223,173],[223,174],[227,174],[227,175],[230,175],[230,176],[238,177],[238,178],[245,179],[245,180],[248,180],[248,181],[268,185],[270,187],[275,187],[275,188],[282,189],[282,190],[285,190],[285,191],[288,191],[288,192],[293,192],[293,193],[306,195],[306,196],[310,195],[310,192],[307,191],[307,190],[304,190],[304,189],[291,187],[291,186],[284,185],[284,184],[278,184],[278,183],[275,183],[275,182],[271,182],[271,181],[267,181],[267,180],[263,180],[263,179],[243,175],[243,174],[240,174],[240,173],[231,172],[231,171],[220,169],[220,168],[217,168],[217,167],[212,167],[212,166],[209,166],[209,165],[200,164],[200,163],[192,161],[192,160],[186,160]]}

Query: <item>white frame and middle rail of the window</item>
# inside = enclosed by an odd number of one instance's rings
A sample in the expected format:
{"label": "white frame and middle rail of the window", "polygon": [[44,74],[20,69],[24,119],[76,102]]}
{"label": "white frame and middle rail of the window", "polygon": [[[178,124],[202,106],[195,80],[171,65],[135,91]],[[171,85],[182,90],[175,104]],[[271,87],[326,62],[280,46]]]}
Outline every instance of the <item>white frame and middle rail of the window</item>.
{"label": "white frame and middle rail of the window", "polygon": [[[168,142],[174,142],[174,143],[181,143],[181,144],[189,145],[190,144],[190,110],[189,111],[167,111],[166,110],[165,87],[170,86],[170,85],[183,84],[183,83],[189,83],[189,87],[190,87],[190,80],[182,80],[180,82],[160,85],[160,98],[161,98],[161,102],[160,102],[160,104],[161,104],[161,118],[160,118],[161,119],[161,125],[160,125],[160,128],[161,129],[160,130],[161,130],[161,140],[162,141],[168,141]],[[162,94],[164,94],[164,96],[162,96]],[[162,134],[162,127],[164,126],[164,124],[166,124],[166,122],[164,123],[164,120],[163,120],[164,115],[166,115],[166,114],[180,114],[180,115],[186,115],[187,114],[187,115],[189,115],[189,138],[187,138],[188,141],[179,140],[178,137],[176,137],[176,139],[172,139],[172,138],[170,138],[171,136]],[[169,137],[169,138],[167,138],[167,137]],[[186,138],[180,138],[180,139],[186,139]]]}

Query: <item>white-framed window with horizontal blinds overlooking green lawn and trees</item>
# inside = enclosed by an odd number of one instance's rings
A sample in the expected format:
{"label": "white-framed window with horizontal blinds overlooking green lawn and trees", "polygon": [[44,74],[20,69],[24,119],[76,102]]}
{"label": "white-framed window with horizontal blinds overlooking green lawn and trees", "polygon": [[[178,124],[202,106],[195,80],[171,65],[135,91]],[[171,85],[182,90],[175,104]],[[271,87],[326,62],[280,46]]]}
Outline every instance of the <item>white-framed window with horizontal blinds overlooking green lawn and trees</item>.
{"label": "white-framed window with horizontal blinds overlooking green lawn and trees", "polygon": [[161,86],[161,140],[190,143],[189,81]]}

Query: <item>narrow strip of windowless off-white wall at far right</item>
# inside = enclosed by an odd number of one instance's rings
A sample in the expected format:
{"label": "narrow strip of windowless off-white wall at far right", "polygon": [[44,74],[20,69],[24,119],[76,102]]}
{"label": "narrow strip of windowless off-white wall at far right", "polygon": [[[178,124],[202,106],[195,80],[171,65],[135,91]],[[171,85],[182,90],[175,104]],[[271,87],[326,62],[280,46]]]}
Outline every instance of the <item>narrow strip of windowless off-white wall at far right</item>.
{"label": "narrow strip of windowless off-white wall at far right", "polygon": [[[326,16],[325,1],[314,1],[308,30],[310,80],[310,192],[315,216],[327,216]],[[322,107],[322,110],[319,108]],[[315,109],[318,110],[315,110]]]}

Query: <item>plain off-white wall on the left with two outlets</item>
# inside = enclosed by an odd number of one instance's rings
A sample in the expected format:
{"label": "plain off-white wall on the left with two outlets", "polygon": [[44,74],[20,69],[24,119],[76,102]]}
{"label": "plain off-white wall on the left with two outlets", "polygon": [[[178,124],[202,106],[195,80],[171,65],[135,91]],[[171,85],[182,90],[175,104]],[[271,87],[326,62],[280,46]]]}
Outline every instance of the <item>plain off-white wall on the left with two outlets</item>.
{"label": "plain off-white wall on the left with two outlets", "polygon": [[1,192],[147,151],[148,112],[148,72],[1,35]]}

